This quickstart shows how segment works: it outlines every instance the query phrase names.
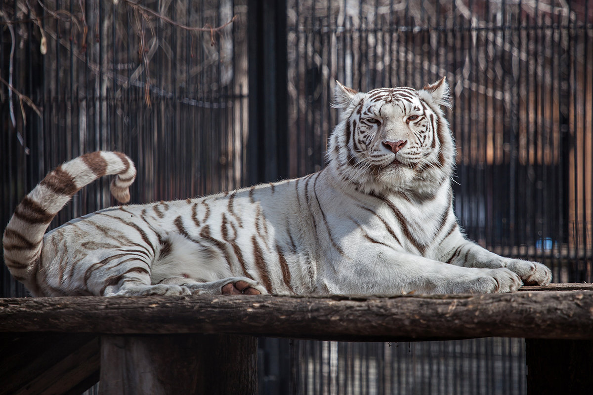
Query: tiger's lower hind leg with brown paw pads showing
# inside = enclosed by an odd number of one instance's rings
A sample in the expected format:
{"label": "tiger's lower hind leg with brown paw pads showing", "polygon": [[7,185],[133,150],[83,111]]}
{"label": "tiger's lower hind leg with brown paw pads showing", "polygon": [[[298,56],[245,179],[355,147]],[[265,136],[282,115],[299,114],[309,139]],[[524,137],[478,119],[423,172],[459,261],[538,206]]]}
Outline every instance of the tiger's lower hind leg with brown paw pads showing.
{"label": "tiger's lower hind leg with brown paw pads showing", "polygon": [[159,284],[177,284],[187,287],[192,294],[209,295],[260,295],[267,294],[259,282],[247,277],[229,277],[223,280],[199,282],[186,277],[165,278]]}

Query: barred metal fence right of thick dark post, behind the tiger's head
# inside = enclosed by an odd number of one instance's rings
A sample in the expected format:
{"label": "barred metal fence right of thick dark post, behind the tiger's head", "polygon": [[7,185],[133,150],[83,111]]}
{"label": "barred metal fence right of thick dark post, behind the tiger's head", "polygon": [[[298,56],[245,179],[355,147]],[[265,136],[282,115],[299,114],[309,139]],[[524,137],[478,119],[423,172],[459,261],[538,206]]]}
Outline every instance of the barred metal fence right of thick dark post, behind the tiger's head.
{"label": "barred metal fence right of thick dark post, behind the tiger's head", "polygon": [[[591,274],[593,2],[288,2],[291,175],[323,166],[334,79],[366,91],[446,76],[455,213],[468,237]],[[522,394],[522,339],[299,342],[292,393]],[[403,352],[405,351],[405,352]]]}

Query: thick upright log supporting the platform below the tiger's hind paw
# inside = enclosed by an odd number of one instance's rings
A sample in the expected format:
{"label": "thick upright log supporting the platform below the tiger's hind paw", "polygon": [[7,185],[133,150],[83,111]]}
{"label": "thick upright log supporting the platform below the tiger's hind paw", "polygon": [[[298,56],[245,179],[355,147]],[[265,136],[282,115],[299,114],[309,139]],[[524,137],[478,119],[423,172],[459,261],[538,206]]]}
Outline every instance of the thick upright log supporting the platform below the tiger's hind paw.
{"label": "thick upright log supporting the platform below the tiger's hind paw", "polygon": [[101,336],[100,395],[256,393],[252,336]]}

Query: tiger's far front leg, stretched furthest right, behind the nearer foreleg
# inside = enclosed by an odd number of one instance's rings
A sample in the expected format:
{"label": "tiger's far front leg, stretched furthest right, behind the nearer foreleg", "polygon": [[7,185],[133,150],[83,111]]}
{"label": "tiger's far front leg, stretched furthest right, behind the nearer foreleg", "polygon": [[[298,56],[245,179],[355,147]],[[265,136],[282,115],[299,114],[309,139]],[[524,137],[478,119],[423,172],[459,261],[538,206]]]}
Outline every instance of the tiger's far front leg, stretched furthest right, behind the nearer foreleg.
{"label": "tiger's far front leg, stretched furthest right, behind the nearer foreleg", "polygon": [[459,230],[451,233],[444,242],[448,242],[448,246],[444,249],[442,261],[448,264],[474,268],[507,268],[519,275],[525,285],[547,285],[551,281],[551,271],[546,265],[496,255],[466,240]]}

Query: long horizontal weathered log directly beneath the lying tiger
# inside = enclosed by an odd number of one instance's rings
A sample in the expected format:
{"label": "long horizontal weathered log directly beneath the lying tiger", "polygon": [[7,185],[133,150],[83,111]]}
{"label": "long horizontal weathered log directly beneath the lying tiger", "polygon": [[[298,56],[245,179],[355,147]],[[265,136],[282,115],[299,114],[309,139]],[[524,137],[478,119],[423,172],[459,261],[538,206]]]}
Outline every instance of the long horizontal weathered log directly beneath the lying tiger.
{"label": "long horizontal weathered log directly beneath the lying tiger", "polygon": [[593,291],[539,289],[455,296],[11,298],[0,300],[0,332],[18,327],[352,341],[593,339]]}

